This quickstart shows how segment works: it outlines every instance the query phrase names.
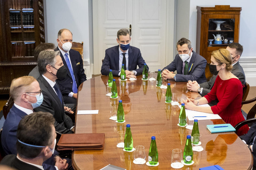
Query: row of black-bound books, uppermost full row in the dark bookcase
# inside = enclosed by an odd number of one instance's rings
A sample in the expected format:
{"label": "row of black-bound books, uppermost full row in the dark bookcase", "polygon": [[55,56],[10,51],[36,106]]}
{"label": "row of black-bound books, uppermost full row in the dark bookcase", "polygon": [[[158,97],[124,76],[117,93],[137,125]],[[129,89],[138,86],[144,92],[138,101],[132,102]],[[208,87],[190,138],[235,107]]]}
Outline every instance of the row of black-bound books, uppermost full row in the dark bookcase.
{"label": "row of black-bound books, uppermost full row in the dark bookcase", "polygon": [[[10,14],[10,25],[21,25],[21,15],[19,13]],[[34,25],[34,14],[23,14],[22,25]]]}

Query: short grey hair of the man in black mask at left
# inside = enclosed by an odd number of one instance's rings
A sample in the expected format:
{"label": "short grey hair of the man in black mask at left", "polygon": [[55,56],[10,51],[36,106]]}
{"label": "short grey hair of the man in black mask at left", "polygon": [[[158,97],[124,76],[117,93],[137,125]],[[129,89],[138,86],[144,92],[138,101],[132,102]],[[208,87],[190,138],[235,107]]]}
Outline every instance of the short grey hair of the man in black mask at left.
{"label": "short grey hair of the man in black mask at left", "polygon": [[49,64],[54,66],[56,63],[56,56],[59,56],[59,51],[41,51],[37,58],[37,66],[39,73],[45,74],[46,73],[46,66]]}

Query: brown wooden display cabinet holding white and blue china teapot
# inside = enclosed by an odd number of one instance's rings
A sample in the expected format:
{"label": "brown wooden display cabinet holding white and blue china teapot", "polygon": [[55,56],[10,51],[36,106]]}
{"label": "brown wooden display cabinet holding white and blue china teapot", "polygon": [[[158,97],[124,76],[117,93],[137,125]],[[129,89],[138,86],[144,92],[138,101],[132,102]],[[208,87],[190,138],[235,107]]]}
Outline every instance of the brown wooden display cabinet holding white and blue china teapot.
{"label": "brown wooden display cabinet holding white and blue china teapot", "polygon": [[[211,52],[220,48],[226,48],[230,40],[239,43],[239,25],[241,7],[230,7],[230,5],[215,5],[214,7],[197,6],[197,53],[203,56],[207,63],[211,63]],[[220,25],[221,30],[216,30],[217,24],[213,21],[225,21]],[[209,39],[214,39],[213,34],[220,34],[227,39],[225,44],[209,44]],[[207,79],[212,75],[206,67]]]}

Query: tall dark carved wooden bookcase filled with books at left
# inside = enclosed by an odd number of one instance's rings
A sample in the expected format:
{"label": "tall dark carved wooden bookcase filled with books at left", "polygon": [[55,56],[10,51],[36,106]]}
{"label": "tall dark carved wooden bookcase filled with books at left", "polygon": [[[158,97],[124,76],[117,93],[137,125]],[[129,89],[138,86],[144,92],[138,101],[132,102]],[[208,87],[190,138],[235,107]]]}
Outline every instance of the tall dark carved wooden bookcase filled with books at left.
{"label": "tall dark carved wooden bookcase filled with books at left", "polygon": [[45,43],[43,0],[0,0],[0,94],[11,80],[37,65],[34,49]]}

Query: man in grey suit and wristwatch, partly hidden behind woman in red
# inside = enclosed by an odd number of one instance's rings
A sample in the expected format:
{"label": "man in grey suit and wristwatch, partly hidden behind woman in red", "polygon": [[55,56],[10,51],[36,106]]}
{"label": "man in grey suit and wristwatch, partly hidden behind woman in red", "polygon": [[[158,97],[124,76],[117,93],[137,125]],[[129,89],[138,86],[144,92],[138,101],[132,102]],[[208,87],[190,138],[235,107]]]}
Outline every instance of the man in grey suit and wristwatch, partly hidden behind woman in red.
{"label": "man in grey suit and wristwatch, partly hidden behind woman in red", "polygon": [[[240,45],[239,43],[231,43],[227,46],[226,49],[229,50],[233,59],[232,60],[233,68],[231,70],[231,73],[234,74],[241,81],[242,84],[245,84],[245,73],[238,61],[242,55],[243,46]],[[190,91],[199,92],[201,96],[205,96],[208,93],[210,93],[216,78],[217,78],[217,75],[213,75],[213,77],[211,77],[208,82],[204,82],[201,84],[198,84],[197,81],[193,81],[193,82],[188,81],[187,89]],[[215,101],[216,104],[217,102],[218,101]]]}

